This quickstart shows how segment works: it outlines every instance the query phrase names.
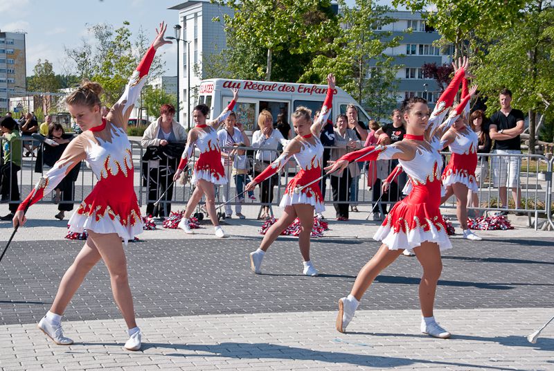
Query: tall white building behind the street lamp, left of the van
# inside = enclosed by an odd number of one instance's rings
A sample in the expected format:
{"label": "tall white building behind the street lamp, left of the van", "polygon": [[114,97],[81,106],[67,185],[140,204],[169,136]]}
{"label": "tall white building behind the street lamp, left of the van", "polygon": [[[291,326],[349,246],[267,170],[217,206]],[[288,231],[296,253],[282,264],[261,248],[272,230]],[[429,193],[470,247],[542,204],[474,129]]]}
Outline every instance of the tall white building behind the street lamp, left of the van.
{"label": "tall white building behind the street lamp, left of the van", "polygon": [[179,42],[179,122],[191,125],[190,112],[198,96],[202,73],[202,57],[220,53],[226,47],[226,35],[222,23],[212,21],[233,11],[225,6],[210,3],[210,0],[188,0],[172,6],[179,11],[181,41]]}

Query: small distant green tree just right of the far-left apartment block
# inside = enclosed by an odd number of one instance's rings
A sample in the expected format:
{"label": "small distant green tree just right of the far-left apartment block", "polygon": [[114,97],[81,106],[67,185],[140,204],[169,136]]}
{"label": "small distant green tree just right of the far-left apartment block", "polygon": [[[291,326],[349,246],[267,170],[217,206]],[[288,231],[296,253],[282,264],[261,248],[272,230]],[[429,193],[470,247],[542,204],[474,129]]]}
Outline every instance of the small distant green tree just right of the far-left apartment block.
{"label": "small distant green tree just right of the far-left apartment block", "polygon": [[27,89],[28,91],[43,93],[35,95],[35,100],[38,101],[39,107],[42,107],[45,112],[49,112],[52,107],[55,107],[57,97],[48,93],[56,93],[60,89],[60,83],[56,78],[51,62],[48,62],[48,60],[44,60],[44,62],[38,60],[33,73],[33,76],[28,78]]}

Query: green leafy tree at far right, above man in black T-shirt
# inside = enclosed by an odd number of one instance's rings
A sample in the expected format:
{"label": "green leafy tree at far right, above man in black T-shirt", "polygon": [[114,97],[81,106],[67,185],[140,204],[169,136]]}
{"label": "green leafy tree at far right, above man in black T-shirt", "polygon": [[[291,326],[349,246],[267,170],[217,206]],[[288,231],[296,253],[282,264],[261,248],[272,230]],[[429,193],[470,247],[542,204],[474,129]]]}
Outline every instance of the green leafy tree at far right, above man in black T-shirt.
{"label": "green leafy tree at far right, above man in black T-shirt", "polygon": [[551,1],[529,1],[517,28],[492,31],[489,37],[497,42],[475,71],[479,90],[490,98],[489,114],[499,108],[498,92],[503,87],[512,90],[512,105],[528,113],[531,153],[535,152],[537,113],[554,102],[552,5]]}

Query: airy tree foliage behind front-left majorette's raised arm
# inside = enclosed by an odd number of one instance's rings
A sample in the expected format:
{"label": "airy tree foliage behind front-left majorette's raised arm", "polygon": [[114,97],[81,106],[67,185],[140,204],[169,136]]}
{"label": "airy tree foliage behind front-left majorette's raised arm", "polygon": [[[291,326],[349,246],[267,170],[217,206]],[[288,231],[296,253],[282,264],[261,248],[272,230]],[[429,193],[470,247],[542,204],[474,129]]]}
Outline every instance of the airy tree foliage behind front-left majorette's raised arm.
{"label": "airy tree foliage behind front-left majorette's raised arm", "polygon": [[[65,48],[65,53],[75,62],[75,69],[80,78],[102,84],[105,102],[107,105],[113,105],[123,93],[125,84],[148,49],[149,39],[143,28],[140,28],[133,41],[127,21],[115,30],[110,24],[96,24],[89,26],[88,32],[93,36],[93,42],[82,39],[80,46]],[[155,78],[161,73],[163,63],[157,53],[148,78]]]}

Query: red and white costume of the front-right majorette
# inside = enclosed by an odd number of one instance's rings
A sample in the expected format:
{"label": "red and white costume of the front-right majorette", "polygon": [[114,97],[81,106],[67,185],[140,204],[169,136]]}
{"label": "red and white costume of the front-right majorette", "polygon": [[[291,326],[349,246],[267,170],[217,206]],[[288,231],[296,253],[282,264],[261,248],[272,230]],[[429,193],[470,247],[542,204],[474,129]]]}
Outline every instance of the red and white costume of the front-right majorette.
{"label": "red and white costume of the front-right majorette", "polygon": [[[452,248],[447,235],[445,221],[440,215],[440,192],[441,179],[440,168],[443,167],[443,158],[440,150],[443,149],[440,137],[444,130],[452,125],[457,116],[450,116],[443,125],[440,125],[447,114],[447,109],[452,106],[454,97],[458,91],[465,71],[459,69],[452,82],[440,96],[433,113],[429,118],[427,136],[404,135],[404,141],[418,141],[418,148],[415,157],[410,161],[398,159],[402,170],[408,174],[412,189],[408,196],[397,202],[392,208],[383,224],[379,227],[373,239],[381,241],[390,250],[414,248],[422,242],[434,242],[440,250]],[[467,98],[469,99],[469,97]],[[464,101],[456,107],[462,109]],[[467,103],[467,101],[465,101]],[[464,104],[465,106],[465,104]],[[351,152],[339,160],[347,161],[375,161],[392,159],[394,154],[400,152],[396,147],[398,143],[375,149],[374,146],[366,147],[363,150]],[[366,153],[366,156],[362,156]]]}

